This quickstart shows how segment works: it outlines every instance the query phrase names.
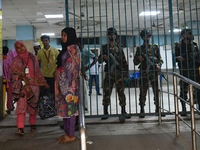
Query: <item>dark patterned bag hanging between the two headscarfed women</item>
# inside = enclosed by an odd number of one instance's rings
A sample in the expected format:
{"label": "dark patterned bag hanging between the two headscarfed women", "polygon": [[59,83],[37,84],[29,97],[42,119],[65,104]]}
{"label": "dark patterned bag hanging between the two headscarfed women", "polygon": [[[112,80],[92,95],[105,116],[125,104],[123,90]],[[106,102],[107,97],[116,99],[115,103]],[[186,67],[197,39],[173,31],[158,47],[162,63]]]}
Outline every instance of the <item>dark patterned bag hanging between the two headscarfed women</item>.
{"label": "dark patterned bag hanging between the two headscarfed women", "polygon": [[54,97],[50,89],[41,87],[38,101],[38,115],[41,119],[50,118],[56,115]]}

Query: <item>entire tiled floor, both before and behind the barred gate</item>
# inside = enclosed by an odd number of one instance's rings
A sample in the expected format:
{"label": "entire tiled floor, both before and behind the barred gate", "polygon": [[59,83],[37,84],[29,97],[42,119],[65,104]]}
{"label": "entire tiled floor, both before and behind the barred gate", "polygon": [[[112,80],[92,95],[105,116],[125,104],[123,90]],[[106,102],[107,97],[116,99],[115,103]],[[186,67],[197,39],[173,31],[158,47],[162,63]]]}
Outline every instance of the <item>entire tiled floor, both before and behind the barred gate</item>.
{"label": "entire tiled floor, both before and behind the barred gate", "polygon": [[[167,90],[167,88],[165,88]],[[172,88],[169,88],[172,91]],[[162,118],[162,124],[158,125],[158,117],[147,115],[140,119],[136,109],[138,106],[138,88],[126,89],[127,111],[133,115],[127,119],[124,124],[119,123],[118,117],[110,117],[107,120],[101,120],[99,117],[93,118],[92,115],[102,114],[102,96],[96,96],[95,92],[91,96],[90,109],[86,113],[86,136],[87,150],[192,150],[192,137],[190,128],[180,122],[181,134],[176,136],[175,117],[167,115]],[[150,92],[147,97],[146,112],[154,111],[153,99]],[[112,95],[112,114],[117,110],[120,112],[116,95]],[[165,108],[173,111],[173,96],[163,94],[163,104]],[[97,108],[97,109],[96,109]],[[200,132],[200,115],[195,115],[196,129]],[[190,115],[185,117],[190,125]],[[56,143],[56,138],[64,132],[59,128],[58,121],[62,120],[53,117],[45,120],[37,118],[37,132],[30,133],[28,118],[26,119],[25,136],[15,135],[16,116],[7,115],[0,121],[0,149],[1,150],[79,150],[79,132],[76,132],[76,141],[68,144]],[[200,149],[200,138],[196,136],[197,149]]]}

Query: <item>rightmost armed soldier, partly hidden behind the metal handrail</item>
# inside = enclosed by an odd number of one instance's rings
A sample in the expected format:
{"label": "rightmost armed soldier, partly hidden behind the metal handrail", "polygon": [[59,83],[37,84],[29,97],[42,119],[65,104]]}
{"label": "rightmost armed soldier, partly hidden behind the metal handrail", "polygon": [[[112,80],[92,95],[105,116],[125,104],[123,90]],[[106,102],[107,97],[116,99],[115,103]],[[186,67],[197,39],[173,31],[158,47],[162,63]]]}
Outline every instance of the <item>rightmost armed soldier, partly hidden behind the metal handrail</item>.
{"label": "rightmost armed soldier, partly hidden behind the metal handrail", "polygon": [[[194,36],[191,29],[182,29],[180,43],[175,43],[176,62],[178,62],[179,72],[181,75],[200,83],[200,56],[197,43],[193,42]],[[180,81],[180,97],[188,100],[189,85],[186,82]],[[194,90],[194,99],[198,99],[200,104],[200,91]],[[182,112],[181,116],[186,116],[186,104],[181,100]]]}

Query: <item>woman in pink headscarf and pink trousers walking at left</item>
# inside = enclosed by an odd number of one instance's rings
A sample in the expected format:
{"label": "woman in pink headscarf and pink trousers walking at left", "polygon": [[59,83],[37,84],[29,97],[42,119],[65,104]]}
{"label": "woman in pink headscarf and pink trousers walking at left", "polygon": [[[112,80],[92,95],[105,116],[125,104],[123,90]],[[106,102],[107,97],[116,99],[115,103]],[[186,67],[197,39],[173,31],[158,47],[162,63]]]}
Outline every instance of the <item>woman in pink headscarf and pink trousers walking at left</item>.
{"label": "woman in pink headscarf and pink trousers walking at left", "polygon": [[22,41],[17,41],[14,47],[17,56],[13,59],[10,71],[13,83],[12,92],[15,101],[17,101],[15,113],[17,115],[18,130],[16,134],[23,136],[26,113],[29,113],[31,132],[36,131],[39,86],[48,87],[48,85],[40,72],[36,56],[28,52]]}

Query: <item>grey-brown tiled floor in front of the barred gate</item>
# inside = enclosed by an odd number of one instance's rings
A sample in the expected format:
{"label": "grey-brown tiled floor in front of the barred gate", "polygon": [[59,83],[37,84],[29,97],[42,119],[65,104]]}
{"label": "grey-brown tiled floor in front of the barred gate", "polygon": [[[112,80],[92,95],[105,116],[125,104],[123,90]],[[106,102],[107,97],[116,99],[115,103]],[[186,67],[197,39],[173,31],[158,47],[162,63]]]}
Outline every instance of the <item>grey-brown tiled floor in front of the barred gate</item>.
{"label": "grey-brown tiled floor in front of the barred gate", "polygon": [[[190,129],[181,122],[181,134],[176,136],[174,121],[171,121],[171,117],[166,118],[161,125],[158,125],[155,117],[148,117],[143,122],[139,122],[138,117],[132,117],[124,124],[118,123],[116,118],[110,118],[107,123],[100,119],[86,119],[86,148],[87,150],[192,150]],[[63,134],[63,130],[56,125],[58,120],[57,117],[47,120],[38,118],[36,133],[30,133],[30,127],[26,126],[24,137],[18,137],[15,135],[15,117],[10,115],[0,122],[0,149],[81,149],[79,132],[76,132],[77,139],[73,143],[56,143],[56,138]],[[200,124],[199,120],[196,122]],[[197,126],[197,131],[200,131],[200,126]],[[200,138],[197,136],[198,149],[199,141]]]}

